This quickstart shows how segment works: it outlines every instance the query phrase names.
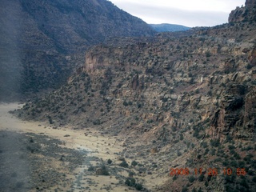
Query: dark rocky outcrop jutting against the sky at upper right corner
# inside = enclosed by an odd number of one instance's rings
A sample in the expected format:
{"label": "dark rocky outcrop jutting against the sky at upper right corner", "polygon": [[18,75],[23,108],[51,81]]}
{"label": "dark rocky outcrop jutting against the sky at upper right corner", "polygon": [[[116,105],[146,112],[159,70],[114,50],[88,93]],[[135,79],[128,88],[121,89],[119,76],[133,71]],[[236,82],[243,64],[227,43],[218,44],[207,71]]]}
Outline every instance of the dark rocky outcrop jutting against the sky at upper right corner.
{"label": "dark rocky outcrop jutting against the sky at upper right corner", "polygon": [[229,22],[250,22],[256,19],[256,1],[246,0],[246,6],[232,10]]}

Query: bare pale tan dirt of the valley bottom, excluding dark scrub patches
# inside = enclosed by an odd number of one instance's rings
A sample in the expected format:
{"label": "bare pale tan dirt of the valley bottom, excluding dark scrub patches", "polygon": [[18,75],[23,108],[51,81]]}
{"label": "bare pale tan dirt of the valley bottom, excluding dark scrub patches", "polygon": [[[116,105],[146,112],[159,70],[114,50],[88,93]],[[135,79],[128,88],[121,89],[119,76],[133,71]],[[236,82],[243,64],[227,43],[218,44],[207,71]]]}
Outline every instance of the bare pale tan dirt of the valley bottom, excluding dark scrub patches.
{"label": "bare pale tan dirt of the valley bottom, excluding dark scrub patches", "polygon": [[[36,162],[40,162],[40,170],[32,170],[32,172],[45,170],[54,170],[58,173],[62,173],[65,177],[62,179],[56,180],[58,183],[54,183],[47,186],[40,183],[36,189],[33,189],[34,186],[30,185],[32,190],[30,191],[134,191],[134,187],[126,186],[124,184],[125,179],[128,177],[130,172],[129,169],[118,166],[121,161],[118,159],[122,151],[125,150],[125,146],[122,146],[120,138],[118,136],[110,136],[102,134],[97,130],[92,128],[85,128],[84,130],[74,130],[72,126],[65,127],[52,127],[47,122],[28,122],[22,121],[12,114],[8,113],[10,110],[15,110],[21,108],[22,104],[18,103],[2,103],[0,105],[0,131],[14,132],[18,134],[26,134],[27,137],[34,139],[35,141],[46,141],[51,138],[57,139],[61,142],[54,143],[53,145],[62,147],[70,150],[86,151],[84,156],[84,162],[80,162],[78,166],[75,166],[74,170],[70,170],[67,167],[68,164],[72,163],[68,161],[59,161],[59,157],[68,156],[69,152],[63,152],[62,156],[59,153],[54,157],[52,154],[49,156],[44,156],[45,154],[34,153],[33,157],[36,157]],[[38,135],[38,136],[36,136]],[[39,136],[45,136],[48,138],[43,138],[42,140]],[[40,140],[41,139],[41,140]],[[32,141],[33,142],[33,141]],[[46,144],[39,143],[40,149],[46,147]],[[8,145],[8,144],[6,144]],[[6,147],[6,146],[5,146]],[[52,147],[52,146],[49,146]],[[28,148],[26,146],[26,148]],[[50,148],[49,148],[50,149]],[[58,148],[59,150],[60,148]],[[88,153],[87,153],[88,152]],[[49,152],[48,152],[49,153]],[[79,155],[78,155],[79,156]],[[58,157],[58,158],[57,158]],[[80,156],[79,156],[80,157]],[[40,159],[40,160],[38,160]],[[79,158],[81,159],[81,158]],[[107,164],[107,160],[111,159],[112,163]],[[126,158],[126,162],[130,165],[132,158]],[[138,158],[139,160],[139,158]],[[141,159],[143,161],[143,159]],[[106,164],[110,175],[96,175],[96,172],[88,171],[89,166],[94,166],[95,168]],[[5,166],[5,165],[2,165]],[[48,169],[48,170],[47,170]],[[37,173],[39,173],[37,172]],[[134,170],[136,173],[136,171]],[[41,173],[41,172],[40,172]],[[39,174],[40,175],[40,174]],[[51,174],[52,175],[52,174]],[[58,174],[59,175],[59,174]],[[40,175],[42,177],[42,174]],[[32,176],[27,175],[28,180]],[[144,175],[143,177],[137,177],[140,181],[143,181],[143,186],[146,186],[147,191],[156,191],[152,190],[154,186],[163,182],[163,178],[154,177],[152,175]],[[45,182],[45,181],[43,181]],[[29,182],[31,183],[31,182]],[[15,185],[19,187],[19,182],[16,182]],[[42,183],[44,184],[44,183]],[[0,190],[2,191],[2,190]],[[10,190],[12,191],[12,190]],[[14,190],[13,190],[14,191]]]}

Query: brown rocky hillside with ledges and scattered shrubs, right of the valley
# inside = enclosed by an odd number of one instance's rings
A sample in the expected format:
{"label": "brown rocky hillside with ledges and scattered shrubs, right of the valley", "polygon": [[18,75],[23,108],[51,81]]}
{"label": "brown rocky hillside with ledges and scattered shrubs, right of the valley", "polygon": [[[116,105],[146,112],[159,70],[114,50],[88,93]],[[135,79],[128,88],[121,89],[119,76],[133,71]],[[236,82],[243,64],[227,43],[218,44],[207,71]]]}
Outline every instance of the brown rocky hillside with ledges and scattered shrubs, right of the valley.
{"label": "brown rocky hillside with ledges and scattered shrubs, right of the valley", "polygon": [[[93,46],[66,85],[15,114],[118,137],[145,191],[254,191],[256,22],[230,17]],[[151,187],[154,178],[166,182]]]}

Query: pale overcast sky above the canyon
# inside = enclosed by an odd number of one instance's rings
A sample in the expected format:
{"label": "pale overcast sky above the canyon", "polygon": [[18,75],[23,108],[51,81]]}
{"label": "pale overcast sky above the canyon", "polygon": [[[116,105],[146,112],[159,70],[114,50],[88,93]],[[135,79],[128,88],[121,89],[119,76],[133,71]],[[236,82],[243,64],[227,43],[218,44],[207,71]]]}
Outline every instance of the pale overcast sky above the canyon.
{"label": "pale overcast sky above the canyon", "polygon": [[216,26],[227,22],[231,10],[246,0],[110,0],[147,23]]}

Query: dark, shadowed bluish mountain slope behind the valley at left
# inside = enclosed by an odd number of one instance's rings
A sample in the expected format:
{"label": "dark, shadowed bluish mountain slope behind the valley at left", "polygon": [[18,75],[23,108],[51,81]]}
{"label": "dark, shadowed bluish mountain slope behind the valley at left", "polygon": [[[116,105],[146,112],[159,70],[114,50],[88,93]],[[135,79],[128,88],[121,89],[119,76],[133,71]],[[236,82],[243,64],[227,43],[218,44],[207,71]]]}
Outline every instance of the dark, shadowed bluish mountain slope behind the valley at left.
{"label": "dark, shadowed bluish mountain slope behind the valley at left", "polygon": [[62,85],[90,45],[154,34],[106,0],[2,0],[0,16],[0,100]]}

